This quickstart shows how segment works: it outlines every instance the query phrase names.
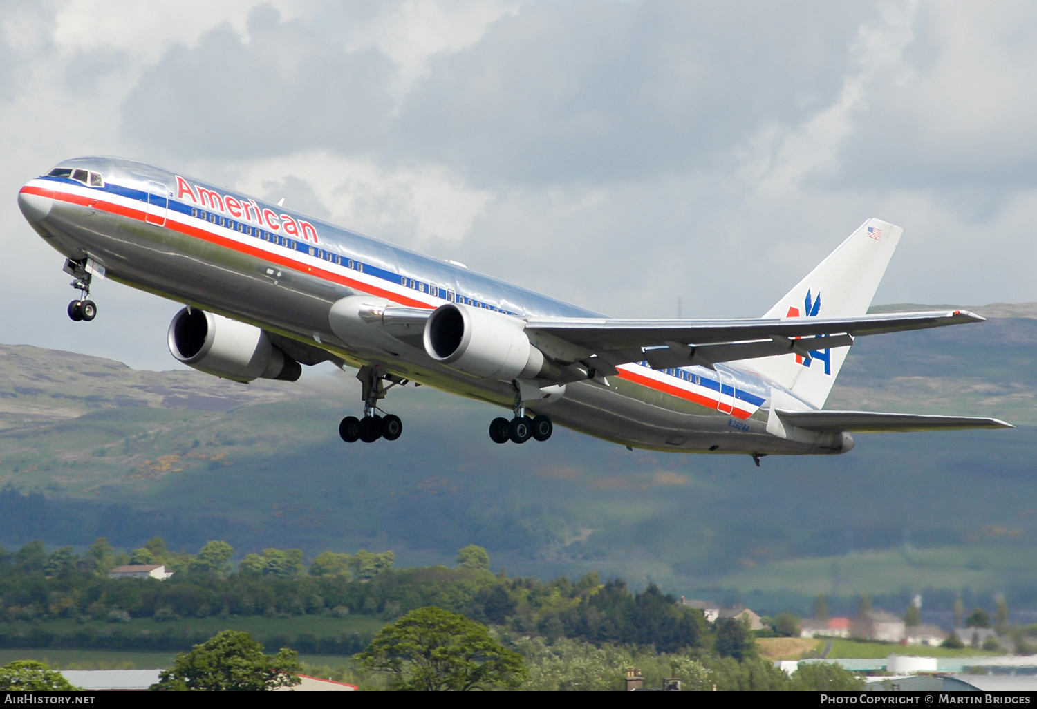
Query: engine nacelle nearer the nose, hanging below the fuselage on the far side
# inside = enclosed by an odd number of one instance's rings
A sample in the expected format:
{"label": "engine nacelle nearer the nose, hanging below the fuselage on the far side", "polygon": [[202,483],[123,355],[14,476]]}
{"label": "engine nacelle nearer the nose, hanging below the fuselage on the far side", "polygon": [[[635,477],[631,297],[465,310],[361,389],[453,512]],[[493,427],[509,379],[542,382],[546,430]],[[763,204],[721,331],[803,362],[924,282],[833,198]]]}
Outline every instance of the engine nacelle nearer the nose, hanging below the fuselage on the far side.
{"label": "engine nacelle nearer the nose, hanging below the fuselage on the far side", "polygon": [[275,347],[259,328],[197,308],[185,308],[173,316],[167,339],[173,357],[206,374],[235,381],[295,381],[303,373],[299,363]]}

